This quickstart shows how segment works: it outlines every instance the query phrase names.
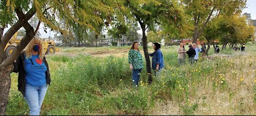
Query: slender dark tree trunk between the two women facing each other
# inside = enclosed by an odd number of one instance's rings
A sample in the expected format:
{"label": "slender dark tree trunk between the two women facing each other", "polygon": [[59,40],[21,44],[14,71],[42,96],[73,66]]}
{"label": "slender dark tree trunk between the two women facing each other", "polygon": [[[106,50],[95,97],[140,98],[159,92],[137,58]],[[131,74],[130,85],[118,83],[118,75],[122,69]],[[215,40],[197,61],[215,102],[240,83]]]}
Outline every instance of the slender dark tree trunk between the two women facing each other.
{"label": "slender dark tree trunk between the two women facing each other", "polygon": [[141,24],[141,29],[142,29],[143,50],[144,50],[144,55],[146,59],[146,68],[147,68],[147,74],[148,74],[148,84],[151,84],[153,82],[153,78],[152,78],[151,64],[150,64],[150,59],[148,54],[148,40],[145,32],[146,25]]}

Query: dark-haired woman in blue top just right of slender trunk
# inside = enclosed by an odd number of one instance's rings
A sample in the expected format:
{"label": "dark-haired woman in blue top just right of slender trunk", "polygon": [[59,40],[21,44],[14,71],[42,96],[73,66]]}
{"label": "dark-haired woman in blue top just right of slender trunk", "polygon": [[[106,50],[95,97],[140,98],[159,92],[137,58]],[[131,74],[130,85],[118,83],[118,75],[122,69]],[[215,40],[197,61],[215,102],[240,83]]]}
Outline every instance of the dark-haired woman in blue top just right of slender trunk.
{"label": "dark-haired woman in blue top just right of slender trunk", "polygon": [[152,57],[152,68],[156,75],[161,71],[162,68],[164,68],[164,56],[160,49],[161,44],[154,43],[155,52],[149,54],[149,56]]}

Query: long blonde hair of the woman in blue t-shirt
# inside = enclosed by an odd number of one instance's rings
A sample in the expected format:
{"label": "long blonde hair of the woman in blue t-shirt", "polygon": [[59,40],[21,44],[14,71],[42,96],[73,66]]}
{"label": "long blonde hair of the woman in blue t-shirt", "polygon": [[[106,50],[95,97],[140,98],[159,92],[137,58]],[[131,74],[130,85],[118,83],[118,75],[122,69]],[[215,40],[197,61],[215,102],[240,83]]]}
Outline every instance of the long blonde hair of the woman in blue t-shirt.
{"label": "long blonde hair of the woman in blue t-shirt", "polygon": [[38,54],[39,54],[39,59],[43,60],[43,58],[44,58],[44,47],[43,47],[42,41],[39,40],[39,39],[32,39],[28,43],[27,47],[25,48],[26,58],[29,59],[29,58],[32,57],[33,46],[36,43],[39,43],[39,45],[41,46],[41,49],[38,51]]}

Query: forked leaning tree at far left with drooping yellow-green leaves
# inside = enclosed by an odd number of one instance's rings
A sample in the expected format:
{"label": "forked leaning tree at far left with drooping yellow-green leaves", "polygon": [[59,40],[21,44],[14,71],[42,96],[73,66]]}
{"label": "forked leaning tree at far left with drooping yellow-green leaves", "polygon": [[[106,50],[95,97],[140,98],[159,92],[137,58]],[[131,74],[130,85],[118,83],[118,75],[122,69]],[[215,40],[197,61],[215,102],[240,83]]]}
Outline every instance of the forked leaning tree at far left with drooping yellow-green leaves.
{"label": "forked leaning tree at far left with drooping yellow-green leaves", "polygon": [[[52,30],[58,30],[62,34],[70,31],[61,29],[63,21],[68,27],[76,22],[79,25],[99,32],[99,26],[107,19],[107,15],[113,14],[113,8],[117,6],[113,1],[58,1],[58,0],[27,0],[27,1],[0,1],[0,115],[4,115],[11,86],[10,72],[13,70],[13,62],[20,52],[27,46],[39,29],[34,29],[28,21],[36,14],[40,22],[44,22]],[[7,25],[11,28],[3,35]],[[25,37],[14,49],[10,56],[5,55],[4,48],[13,34],[20,28],[25,28]],[[34,31],[35,30],[35,31]]]}

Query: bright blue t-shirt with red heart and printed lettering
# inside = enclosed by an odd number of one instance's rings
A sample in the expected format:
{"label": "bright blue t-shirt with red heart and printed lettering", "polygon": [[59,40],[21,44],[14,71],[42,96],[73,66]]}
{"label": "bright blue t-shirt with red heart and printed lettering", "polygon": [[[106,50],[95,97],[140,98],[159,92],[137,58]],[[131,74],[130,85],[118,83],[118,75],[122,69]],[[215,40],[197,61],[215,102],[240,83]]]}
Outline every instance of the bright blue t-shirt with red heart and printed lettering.
{"label": "bright blue t-shirt with red heart and printed lettering", "polygon": [[42,86],[46,84],[47,68],[39,55],[33,55],[25,59],[26,84],[31,86]]}

